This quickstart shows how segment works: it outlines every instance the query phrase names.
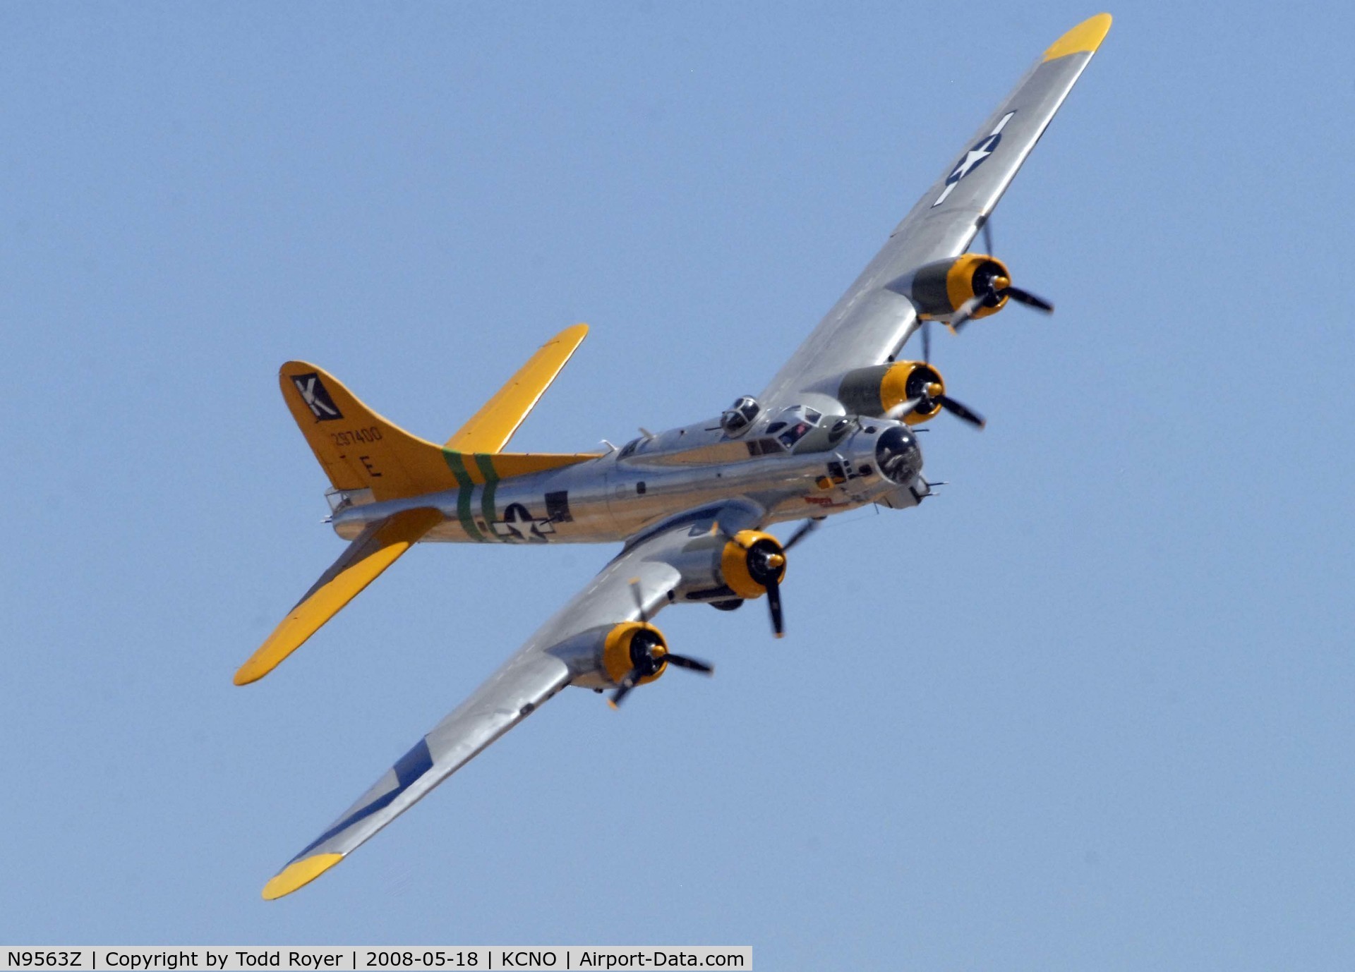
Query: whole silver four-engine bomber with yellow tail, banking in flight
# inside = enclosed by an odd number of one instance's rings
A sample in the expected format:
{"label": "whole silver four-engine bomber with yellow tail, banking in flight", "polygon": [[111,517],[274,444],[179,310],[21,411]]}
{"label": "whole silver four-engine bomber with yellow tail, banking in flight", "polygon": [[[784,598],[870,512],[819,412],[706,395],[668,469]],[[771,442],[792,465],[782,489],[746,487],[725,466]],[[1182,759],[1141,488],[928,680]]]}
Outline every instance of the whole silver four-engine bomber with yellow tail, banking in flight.
{"label": "whole silver four-engine bomber with yellow tail, banking in flight", "polygon": [[[1053,310],[1014,286],[1000,260],[967,250],[1110,23],[1093,16],[1045,51],[771,384],[718,418],[604,454],[503,451],[585,325],[545,344],[440,445],[371,412],[313,364],[282,367],[283,398],[329,477],[332,524],[350,543],[236,684],[271,671],[415,543],[625,546],[268,881],[264,898],[332,868],[566,685],[610,692],[617,705],[669,667],[709,674],[654,627],[668,605],[732,609],[766,596],[779,636],[794,543],[833,513],[905,509],[930,494],[913,428],[942,412],[976,426],[982,418],[946,393],[928,360],[928,322],[959,332],[1011,301]],[[919,332],[920,347],[904,356]],[[766,532],[793,520],[806,523],[786,543]]]}

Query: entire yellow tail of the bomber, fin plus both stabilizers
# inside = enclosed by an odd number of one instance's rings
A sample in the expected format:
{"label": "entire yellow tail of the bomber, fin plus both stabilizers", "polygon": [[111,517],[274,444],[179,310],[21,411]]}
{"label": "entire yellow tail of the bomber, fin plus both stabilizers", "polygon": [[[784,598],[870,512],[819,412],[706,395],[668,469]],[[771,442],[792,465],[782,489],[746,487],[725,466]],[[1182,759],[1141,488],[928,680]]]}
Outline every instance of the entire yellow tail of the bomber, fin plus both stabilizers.
{"label": "entire yellow tail of the bomber, fin plus both stabilizers", "polygon": [[[377,501],[404,500],[592,459],[592,454],[499,452],[587,333],[588,326],[579,324],[542,345],[447,445],[435,445],[382,418],[314,364],[287,361],[278,382],[291,417],[336,490],[370,489]],[[240,666],[236,685],[272,671],[440,520],[436,509],[420,508],[367,527]]]}

